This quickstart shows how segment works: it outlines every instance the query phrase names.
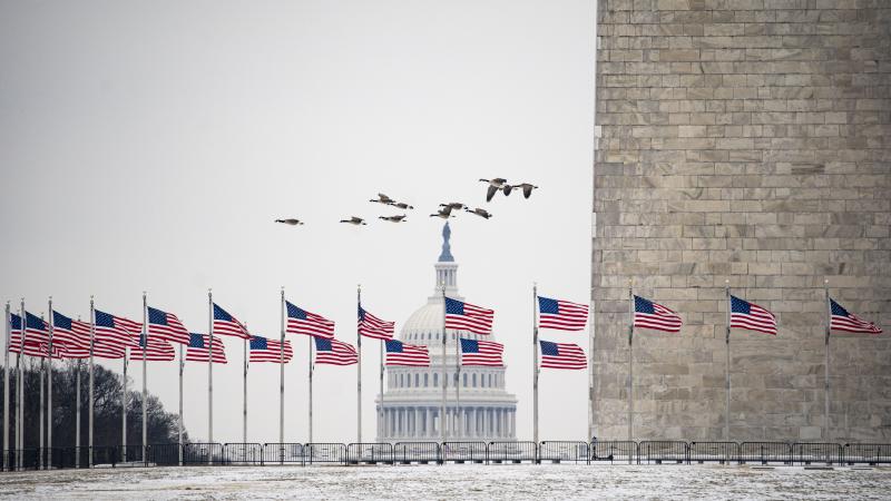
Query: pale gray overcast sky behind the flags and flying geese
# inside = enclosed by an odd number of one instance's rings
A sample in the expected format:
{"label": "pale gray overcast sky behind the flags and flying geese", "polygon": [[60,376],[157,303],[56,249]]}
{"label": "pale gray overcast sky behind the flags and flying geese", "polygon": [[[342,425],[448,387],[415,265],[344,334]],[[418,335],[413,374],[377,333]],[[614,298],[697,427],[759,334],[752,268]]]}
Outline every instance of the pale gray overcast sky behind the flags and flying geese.
{"label": "pale gray overcast sky behind the flags and flying geese", "polygon": [[[430,295],[441,202],[467,301],[496,311],[518,435],[531,435],[531,284],[587,302],[594,1],[0,1],[0,297],[70,316],[151,306],[207,331],[207,287],[277,336],[278,288],[355,343],[355,287],[396,330]],[[484,202],[480,177],[532,181]],[[415,206],[409,222],[366,200]],[[358,215],[369,226],[337,224]],[[298,228],[272,219],[306,220]],[[582,333],[546,333],[577,342]],[[286,441],[306,440],[306,341],[286,369]],[[365,343],[364,434],[378,350]],[[241,441],[241,341],[214,371],[214,438]],[[120,371],[119,361],[102,362]],[[130,372],[141,384],[138,364]],[[206,438],[206,364],[185,423]],[[176,411],[176,364],[149,390]],[[277,366],[249,371],[248,440],[277,440]],[[545,371],[544,439],[580,439],[587,375]],[[355,369],[316,371],[314,439],[354,440]],[[352,395],[352,396],[351,396]]]}

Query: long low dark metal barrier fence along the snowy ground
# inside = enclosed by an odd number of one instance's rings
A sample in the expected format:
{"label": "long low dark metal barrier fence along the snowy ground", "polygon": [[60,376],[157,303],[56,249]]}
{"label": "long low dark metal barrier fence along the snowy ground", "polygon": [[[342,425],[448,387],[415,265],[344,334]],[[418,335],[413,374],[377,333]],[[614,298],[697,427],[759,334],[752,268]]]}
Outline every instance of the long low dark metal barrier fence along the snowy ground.
{"label": "long low dark metal barrier fence along the snowy ground", "polygon": [[176,443],[11,449],[3,471],[175,465],[350,464],[891,464],[891,444],[815,442],[523,441],[396,443]]}

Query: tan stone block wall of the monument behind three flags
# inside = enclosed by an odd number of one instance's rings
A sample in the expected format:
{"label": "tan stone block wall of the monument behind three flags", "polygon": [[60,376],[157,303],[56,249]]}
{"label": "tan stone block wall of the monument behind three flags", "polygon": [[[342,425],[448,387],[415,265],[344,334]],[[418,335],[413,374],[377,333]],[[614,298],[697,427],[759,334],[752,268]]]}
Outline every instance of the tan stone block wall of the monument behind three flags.
{"label": "tan stone block wall of the monument behind three flags", "polygon": [[[891,1],[599,0],[594,433],[627,436],[628,279],[681,334],[635,336],[635,439],[891,440]],[[833,335],[823,284],[884,327]]]}

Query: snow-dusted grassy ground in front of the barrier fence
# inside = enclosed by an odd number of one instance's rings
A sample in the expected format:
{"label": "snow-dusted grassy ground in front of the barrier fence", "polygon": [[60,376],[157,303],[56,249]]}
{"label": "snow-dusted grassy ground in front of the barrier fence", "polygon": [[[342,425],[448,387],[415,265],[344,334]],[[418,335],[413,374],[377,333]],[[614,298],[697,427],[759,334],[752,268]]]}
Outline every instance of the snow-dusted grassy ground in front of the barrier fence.
{"label": "snow-dusted grassy ground in front of the barrier fence", "polygon": [[702,465],[223,466],[0,474],[16,499],[875,499],[891,469]]}

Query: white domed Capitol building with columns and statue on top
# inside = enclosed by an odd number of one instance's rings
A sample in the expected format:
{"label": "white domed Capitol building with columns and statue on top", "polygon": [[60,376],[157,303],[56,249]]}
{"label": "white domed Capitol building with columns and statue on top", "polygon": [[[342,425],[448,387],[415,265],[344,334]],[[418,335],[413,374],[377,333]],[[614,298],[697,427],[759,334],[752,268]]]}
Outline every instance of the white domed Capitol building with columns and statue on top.
{"label": "white domed Capitol building with columns and statue on top", "polygon": [[[430,366],[386,367],[386,390],[383,399],[378,396],[378,442],[441,439],[443,301],[440,284],[446,285],[446,295],[463,301],[458,293],[458,264],[451,254],[450,236],[451,229],[446,223],[442,229],[442,253],[433,266],[433,294],[427,298],[425,305],[411,314],[398,336],[403,343],[428,346]],[[505,391],[505,367],[462,366],[460,389],[456,387],[456,343],[459,336],[498,341],[495,334],[486,336],[449,330],[444,360],[448,374],[447,440],[516,440],[517,399]]]}

